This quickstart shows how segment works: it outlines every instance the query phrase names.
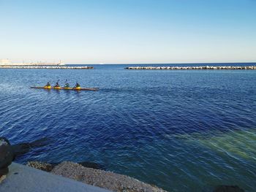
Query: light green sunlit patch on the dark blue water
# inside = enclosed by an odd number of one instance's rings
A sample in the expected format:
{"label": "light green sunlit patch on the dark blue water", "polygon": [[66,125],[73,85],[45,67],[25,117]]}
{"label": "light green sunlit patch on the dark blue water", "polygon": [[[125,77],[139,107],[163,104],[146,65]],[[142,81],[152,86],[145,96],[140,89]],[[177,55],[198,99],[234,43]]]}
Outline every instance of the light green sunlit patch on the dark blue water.
{"label": "light green sunlit patch on the dark blue water", "polygon": [[201,145],[219,153],[227,153],[235,158],[256,161],[256,130],[214,131],[207,133],[178,134],[176,139],[184,139],[190,145]]}

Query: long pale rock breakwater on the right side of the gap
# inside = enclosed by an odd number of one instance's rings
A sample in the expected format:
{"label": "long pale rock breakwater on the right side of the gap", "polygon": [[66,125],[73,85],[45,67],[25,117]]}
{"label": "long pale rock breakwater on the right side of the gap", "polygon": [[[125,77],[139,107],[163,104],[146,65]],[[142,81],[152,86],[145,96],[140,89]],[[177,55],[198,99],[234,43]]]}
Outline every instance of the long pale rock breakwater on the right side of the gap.
{"label": "long pale rock breakwater on the right side of the gap", "polygon": [[224,69],[255,69],[256,66],[128,66],[124,69],[167,69],[167,70],[224,70]]}

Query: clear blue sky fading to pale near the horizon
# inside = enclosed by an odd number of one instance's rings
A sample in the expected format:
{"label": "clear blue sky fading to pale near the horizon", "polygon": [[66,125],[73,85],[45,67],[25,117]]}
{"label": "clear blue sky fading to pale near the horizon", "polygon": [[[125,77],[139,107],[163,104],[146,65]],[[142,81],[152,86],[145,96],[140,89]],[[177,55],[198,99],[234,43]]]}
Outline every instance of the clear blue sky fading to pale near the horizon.
{"label": "clear blue sky fading to pale near the horizon", "polygon": [[256,0],[0,0],[0,58],[256,61]]}

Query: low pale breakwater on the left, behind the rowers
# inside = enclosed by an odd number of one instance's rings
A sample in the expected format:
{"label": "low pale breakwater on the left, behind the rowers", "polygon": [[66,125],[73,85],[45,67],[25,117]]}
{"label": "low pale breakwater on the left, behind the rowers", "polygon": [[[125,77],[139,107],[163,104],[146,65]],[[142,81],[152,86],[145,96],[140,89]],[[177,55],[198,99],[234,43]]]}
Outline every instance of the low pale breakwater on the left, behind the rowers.
{"label": "low pale breakwater on the left, behind the rowers", "polygon": [[0,69],[94,69],[93,66],[0,66]]}

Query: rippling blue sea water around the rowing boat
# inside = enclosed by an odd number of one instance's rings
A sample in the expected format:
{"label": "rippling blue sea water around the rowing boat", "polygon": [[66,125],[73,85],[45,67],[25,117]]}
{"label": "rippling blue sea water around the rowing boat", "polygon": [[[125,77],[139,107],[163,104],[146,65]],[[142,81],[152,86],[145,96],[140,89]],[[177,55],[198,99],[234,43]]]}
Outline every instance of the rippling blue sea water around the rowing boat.
{"label": "rippling blue sea water around the rowing boat", "polygon": [[[0,135],[51,138],[17,161],[91,161],[167,191],[255,191],[256,71],[126,66],[0,69]],[[30,88],[66,79],[99,91]]]}

